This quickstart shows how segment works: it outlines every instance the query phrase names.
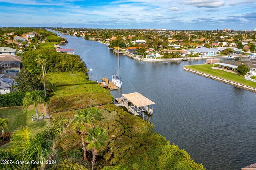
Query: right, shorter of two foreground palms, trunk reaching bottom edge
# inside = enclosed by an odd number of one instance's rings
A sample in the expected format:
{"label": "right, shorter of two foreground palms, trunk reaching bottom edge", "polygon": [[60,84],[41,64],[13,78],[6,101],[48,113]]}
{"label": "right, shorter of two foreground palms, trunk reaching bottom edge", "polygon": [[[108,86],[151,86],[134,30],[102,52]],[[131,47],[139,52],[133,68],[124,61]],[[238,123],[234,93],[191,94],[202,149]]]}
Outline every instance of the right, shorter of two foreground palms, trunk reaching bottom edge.
{"label": "right, shorter of two foreground palms, trunk reaching bottom edge", "polygon": [[92,170],[95,166],[95,160],[98,153],[106,147],[106,141],[108,140],[108,135],[106,130],[101,127],[94,127],[89,130],[88,137],[86,138],[86,142],[88,150],[92,150]]}

